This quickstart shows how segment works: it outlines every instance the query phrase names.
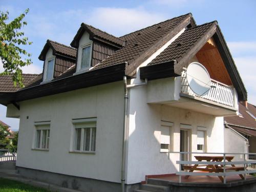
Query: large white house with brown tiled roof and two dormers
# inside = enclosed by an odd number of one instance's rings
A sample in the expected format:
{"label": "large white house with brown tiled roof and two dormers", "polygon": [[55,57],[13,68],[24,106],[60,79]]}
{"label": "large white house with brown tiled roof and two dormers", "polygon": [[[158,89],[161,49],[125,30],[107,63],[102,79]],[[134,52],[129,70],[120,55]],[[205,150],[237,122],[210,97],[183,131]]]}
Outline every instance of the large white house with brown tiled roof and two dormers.
{"label": "large white house with brown tiled roof and two dormers", "polygon": [[[81,24],[71,46],[47,40],[43,72],[23,89],[0,77],[9,83],[0,103],[20,119],[21,175],[128,191],[176,173],[179,154],[169,152],[224,152],[223,117],[237,115],[247,92],[216,21],[197,26],[186,14],[122,37]],[[187,86],[193,61],[210,74],[206,96]]]}

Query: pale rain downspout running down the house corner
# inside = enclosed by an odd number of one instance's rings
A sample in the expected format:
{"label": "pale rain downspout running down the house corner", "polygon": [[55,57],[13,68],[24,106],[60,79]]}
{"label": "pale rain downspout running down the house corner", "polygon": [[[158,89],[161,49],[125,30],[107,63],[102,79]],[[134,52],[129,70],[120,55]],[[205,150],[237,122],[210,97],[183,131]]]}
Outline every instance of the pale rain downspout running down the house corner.
{"label": "pale rain downspout running down the house corner", "polygon": [[126,144],[127,144],[127,102],[128,102],[128,89],[145,86],[147,84],[147,79],[145,82],[137,84],[127,84],[126,76],[123,76],[123,87],[124,87],[124,115],[123,115],[123,148],[122,148],[122,168],[121,168],[121,187],[122,192],[125,192],[125,167],[126,167]]}

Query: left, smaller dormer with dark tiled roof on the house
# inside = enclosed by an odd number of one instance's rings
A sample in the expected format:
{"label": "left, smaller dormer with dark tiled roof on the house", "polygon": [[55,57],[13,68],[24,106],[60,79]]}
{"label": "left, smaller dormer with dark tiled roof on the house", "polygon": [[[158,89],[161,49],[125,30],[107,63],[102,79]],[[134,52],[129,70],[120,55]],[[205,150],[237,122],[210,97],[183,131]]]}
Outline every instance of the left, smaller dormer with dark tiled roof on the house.
{"label": "left, smaller dormer with dark tiled roof on the house", "polygon": [[45,83],[75,65],[76,49],[48,39],[38,58],[44,61],[42,83]]}

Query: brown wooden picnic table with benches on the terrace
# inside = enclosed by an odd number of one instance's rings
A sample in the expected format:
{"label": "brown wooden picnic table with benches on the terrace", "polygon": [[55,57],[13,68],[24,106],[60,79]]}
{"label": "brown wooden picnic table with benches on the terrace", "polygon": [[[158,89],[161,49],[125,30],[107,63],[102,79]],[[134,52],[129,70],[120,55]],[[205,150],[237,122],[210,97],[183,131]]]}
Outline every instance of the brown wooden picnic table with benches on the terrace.
{"label": "brown wooden picnic table with benches on the terrace", "polygon": [[[224,160],[223,156],[195,156],[196,160],[198,160],[198,164],[195,165],[183,165],[184,170],[188,170],[189,172],[194,172],[194,170],[201,170],[203,172],[209,172],[209,173],[223,173],[224,172],[224,166],[223,165],[200,165],[201,161],[209,161],[209,162],[221,162]],[[234,156],[225,156],[226,161],[231,162],[231,160],[234,158]],[[244,170],[244,167],[238,167],[236,165],[231,164],[231,166],[225,166],[225,170]],[[244,176],[239,174],[239,176],[244,179]],[[185,176],[187,179],[189,176]],[[222,176],[218,176],[219,179],[223,182],[224,179]]]}

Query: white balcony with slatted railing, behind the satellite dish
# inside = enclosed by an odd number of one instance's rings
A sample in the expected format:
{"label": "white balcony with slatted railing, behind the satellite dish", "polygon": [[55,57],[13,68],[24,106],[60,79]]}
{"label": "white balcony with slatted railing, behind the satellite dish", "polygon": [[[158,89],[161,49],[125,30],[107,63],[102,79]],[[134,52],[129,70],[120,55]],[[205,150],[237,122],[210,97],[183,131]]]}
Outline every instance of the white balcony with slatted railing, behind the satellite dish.
{"label": "white balcony with slatted railing, behind the satellite dish", "polygon": [[162,104],[214,116],[233,116],[238,111],[236,89],[211,79],[211,89],[195,94],[188,86],[186,69],[181,76],[151,80],[147,84],[147,103]]}

